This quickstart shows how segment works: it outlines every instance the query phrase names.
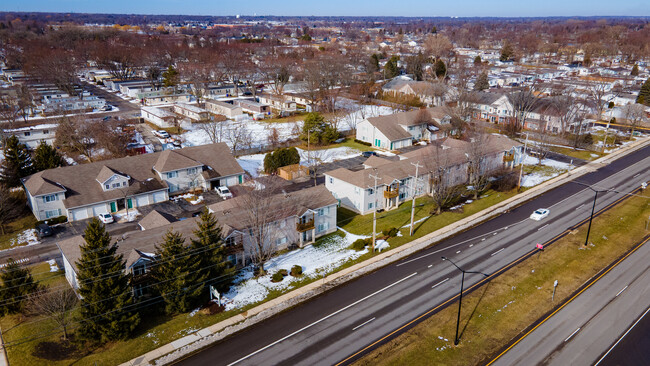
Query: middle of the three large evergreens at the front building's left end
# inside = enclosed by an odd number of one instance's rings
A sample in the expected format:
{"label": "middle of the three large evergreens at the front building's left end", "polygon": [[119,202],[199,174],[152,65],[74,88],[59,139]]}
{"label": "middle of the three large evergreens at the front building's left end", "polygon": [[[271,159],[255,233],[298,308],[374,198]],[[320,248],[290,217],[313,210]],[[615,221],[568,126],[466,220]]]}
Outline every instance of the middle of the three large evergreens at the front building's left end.
{"label": "middle of the three large evergreens at the front building's left end", "polygon": [[199,302],[206,278],[197,278],[199,263],[192,261],[189,248],[180,233],[171,230],[156,247],[156,263],[151,269],[155,290],[165,300],[167,314],[185,313]]}

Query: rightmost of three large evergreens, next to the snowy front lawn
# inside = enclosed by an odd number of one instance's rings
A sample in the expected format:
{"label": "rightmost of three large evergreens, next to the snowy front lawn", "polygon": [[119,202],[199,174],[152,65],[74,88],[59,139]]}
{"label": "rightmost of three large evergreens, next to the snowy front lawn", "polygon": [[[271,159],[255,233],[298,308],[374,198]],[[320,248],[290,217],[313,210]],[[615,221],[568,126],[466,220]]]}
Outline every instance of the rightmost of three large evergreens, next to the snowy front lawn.
{"label": "rightmost of three large evergreens, next to the snowy front lawn", "polygon": [[193,283],[203,289],[202,294],[207,300],[209,286],[215,286],[219,290],[228,288],[235,269],[226,260],[217,219],[208,210],[204,210],[199,218],[197,230],[194,231],[196,239],[192,239],[190,245],[191,261],[198,265],[194,271],[196,277]]}

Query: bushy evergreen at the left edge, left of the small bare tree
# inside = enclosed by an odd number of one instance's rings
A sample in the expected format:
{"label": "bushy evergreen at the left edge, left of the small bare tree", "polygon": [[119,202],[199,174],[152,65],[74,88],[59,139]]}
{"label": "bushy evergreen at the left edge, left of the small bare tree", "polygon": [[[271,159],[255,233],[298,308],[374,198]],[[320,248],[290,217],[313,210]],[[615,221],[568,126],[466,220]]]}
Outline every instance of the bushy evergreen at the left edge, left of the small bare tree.
{"label": "bushy evergreen at the left edge, left of the small bare tree", "polygon": [[10,258],[2,269],[0,279],[2,279],[0,301],[4,304],[0,307],[0,313],[15,314],[23,311],[27,295],[36,291],[38,287],[29,269],[23,268]]}

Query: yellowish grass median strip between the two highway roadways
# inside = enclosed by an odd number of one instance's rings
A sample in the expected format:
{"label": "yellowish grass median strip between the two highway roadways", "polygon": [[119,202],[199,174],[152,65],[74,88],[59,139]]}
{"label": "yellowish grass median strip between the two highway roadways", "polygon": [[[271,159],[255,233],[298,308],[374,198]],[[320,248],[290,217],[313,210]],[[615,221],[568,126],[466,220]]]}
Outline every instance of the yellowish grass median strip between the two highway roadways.
{"label": "yellowish grass median strip between the two highway roadways", "polygon": [[[477,365],[560,304],[585,281],[648,234],[650,200],[630,198],[463,297],[461,343],[455,347],[456,304],[373,351],[360,365]],[[648,244],[646,244],[648,245]],[[551,303],[553,282],[559,286]]]}

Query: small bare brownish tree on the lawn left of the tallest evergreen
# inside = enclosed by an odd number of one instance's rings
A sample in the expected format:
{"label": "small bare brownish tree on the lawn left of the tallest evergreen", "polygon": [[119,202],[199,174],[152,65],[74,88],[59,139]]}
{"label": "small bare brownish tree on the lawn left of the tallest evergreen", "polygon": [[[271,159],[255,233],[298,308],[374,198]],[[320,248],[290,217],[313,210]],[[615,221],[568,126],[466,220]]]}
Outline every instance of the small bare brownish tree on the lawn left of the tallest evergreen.
{"label": "small bare brownish tree on the lawn left of the tallest evergreen", "polygon": [[71,288],[51,290],[39,288],[29,297],[27,309],[34,314],[52,319],[63,329],[63,339],[68,339],[68,328],[73,323],[73,314],[78,298]]}

